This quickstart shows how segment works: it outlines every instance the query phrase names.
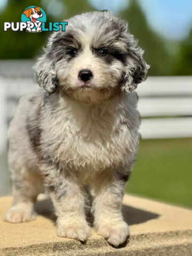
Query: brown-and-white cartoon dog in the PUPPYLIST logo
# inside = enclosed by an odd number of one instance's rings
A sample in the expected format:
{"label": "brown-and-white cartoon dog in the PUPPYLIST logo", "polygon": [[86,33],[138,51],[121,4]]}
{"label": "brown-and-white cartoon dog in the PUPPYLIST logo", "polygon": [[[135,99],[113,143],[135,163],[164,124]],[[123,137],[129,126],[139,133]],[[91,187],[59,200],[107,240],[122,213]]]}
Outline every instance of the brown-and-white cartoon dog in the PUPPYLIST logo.
{"label": "brown-and-white cartoon dog in the PUPPYLIST logo", "polygon": [[[40,11],[40,8],[36,7],[36,6],[34,8],[28,8],[27,10],[23,11],[22,13],[25,14],[26,17],[30,19],[30,21],[27,21],[27,22],[33,22],[36,24],[38,24],[40,22],[37,19],[43,16],[43,13]],[[31,31],[39,32],[40,30],[41,30],[41,27],[37,27],[36,29],[33,28],[32,30],[30,27],[27,28],[27,31],[29,31],[29,32],[31,32]]]}

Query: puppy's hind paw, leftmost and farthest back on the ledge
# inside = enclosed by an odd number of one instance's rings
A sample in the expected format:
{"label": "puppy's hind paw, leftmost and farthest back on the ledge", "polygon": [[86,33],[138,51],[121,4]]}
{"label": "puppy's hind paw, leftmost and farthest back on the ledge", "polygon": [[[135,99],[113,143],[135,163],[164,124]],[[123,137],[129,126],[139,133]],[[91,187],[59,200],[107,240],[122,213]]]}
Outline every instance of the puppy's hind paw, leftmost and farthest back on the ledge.
{"label": "puppy's hind paw, leftmost and farthest back on the ledge", "polygon": [[34,220],[36,217],[35,212],[28,209],[23,209],[20,206],[12,206],[4,215],[3,220],[11,223],[20,223]]}

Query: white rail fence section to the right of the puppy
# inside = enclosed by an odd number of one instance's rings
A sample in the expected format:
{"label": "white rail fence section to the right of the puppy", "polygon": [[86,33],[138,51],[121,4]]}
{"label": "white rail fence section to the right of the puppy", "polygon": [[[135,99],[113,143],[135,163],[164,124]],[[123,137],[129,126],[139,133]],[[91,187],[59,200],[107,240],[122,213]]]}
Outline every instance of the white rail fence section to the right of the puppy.
{"label": "white rail fence section to the right of the puppy", "polygon": [[143,139],[192,137],[192,76],[148,77],[137,92]]}

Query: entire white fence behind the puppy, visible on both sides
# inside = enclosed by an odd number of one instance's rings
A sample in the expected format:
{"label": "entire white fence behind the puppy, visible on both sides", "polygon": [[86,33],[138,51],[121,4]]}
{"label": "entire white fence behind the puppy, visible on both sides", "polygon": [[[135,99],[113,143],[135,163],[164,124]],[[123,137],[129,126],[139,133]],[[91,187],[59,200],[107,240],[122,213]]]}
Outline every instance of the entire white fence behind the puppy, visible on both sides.
{"label": "entire white fence behind the puppy, visible on both sides", "polygon": [[[32,66],[30,60],[0,61],[0,151],[18,98],[37,86]],[[137,93],[143,139],[192,137],[192,76],[148,77]]]}

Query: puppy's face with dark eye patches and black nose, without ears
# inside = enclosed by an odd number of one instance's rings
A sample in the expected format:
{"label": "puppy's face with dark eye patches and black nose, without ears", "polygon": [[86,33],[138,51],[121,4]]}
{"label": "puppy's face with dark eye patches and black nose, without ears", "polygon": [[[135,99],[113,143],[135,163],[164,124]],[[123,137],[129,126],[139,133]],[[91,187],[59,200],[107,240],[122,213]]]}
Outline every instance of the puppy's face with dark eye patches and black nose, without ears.
{"label": "puppy's face with dark eye patches and black nose, without ears", "polygon": [[118,48],[118,39],[109,42],[97,29],[92,26],[75,34],[68,31],[55,43],[63,51],[56,65],[59,90],[78,101],[105,100],[117,93],[122,84],[125,45]]}

